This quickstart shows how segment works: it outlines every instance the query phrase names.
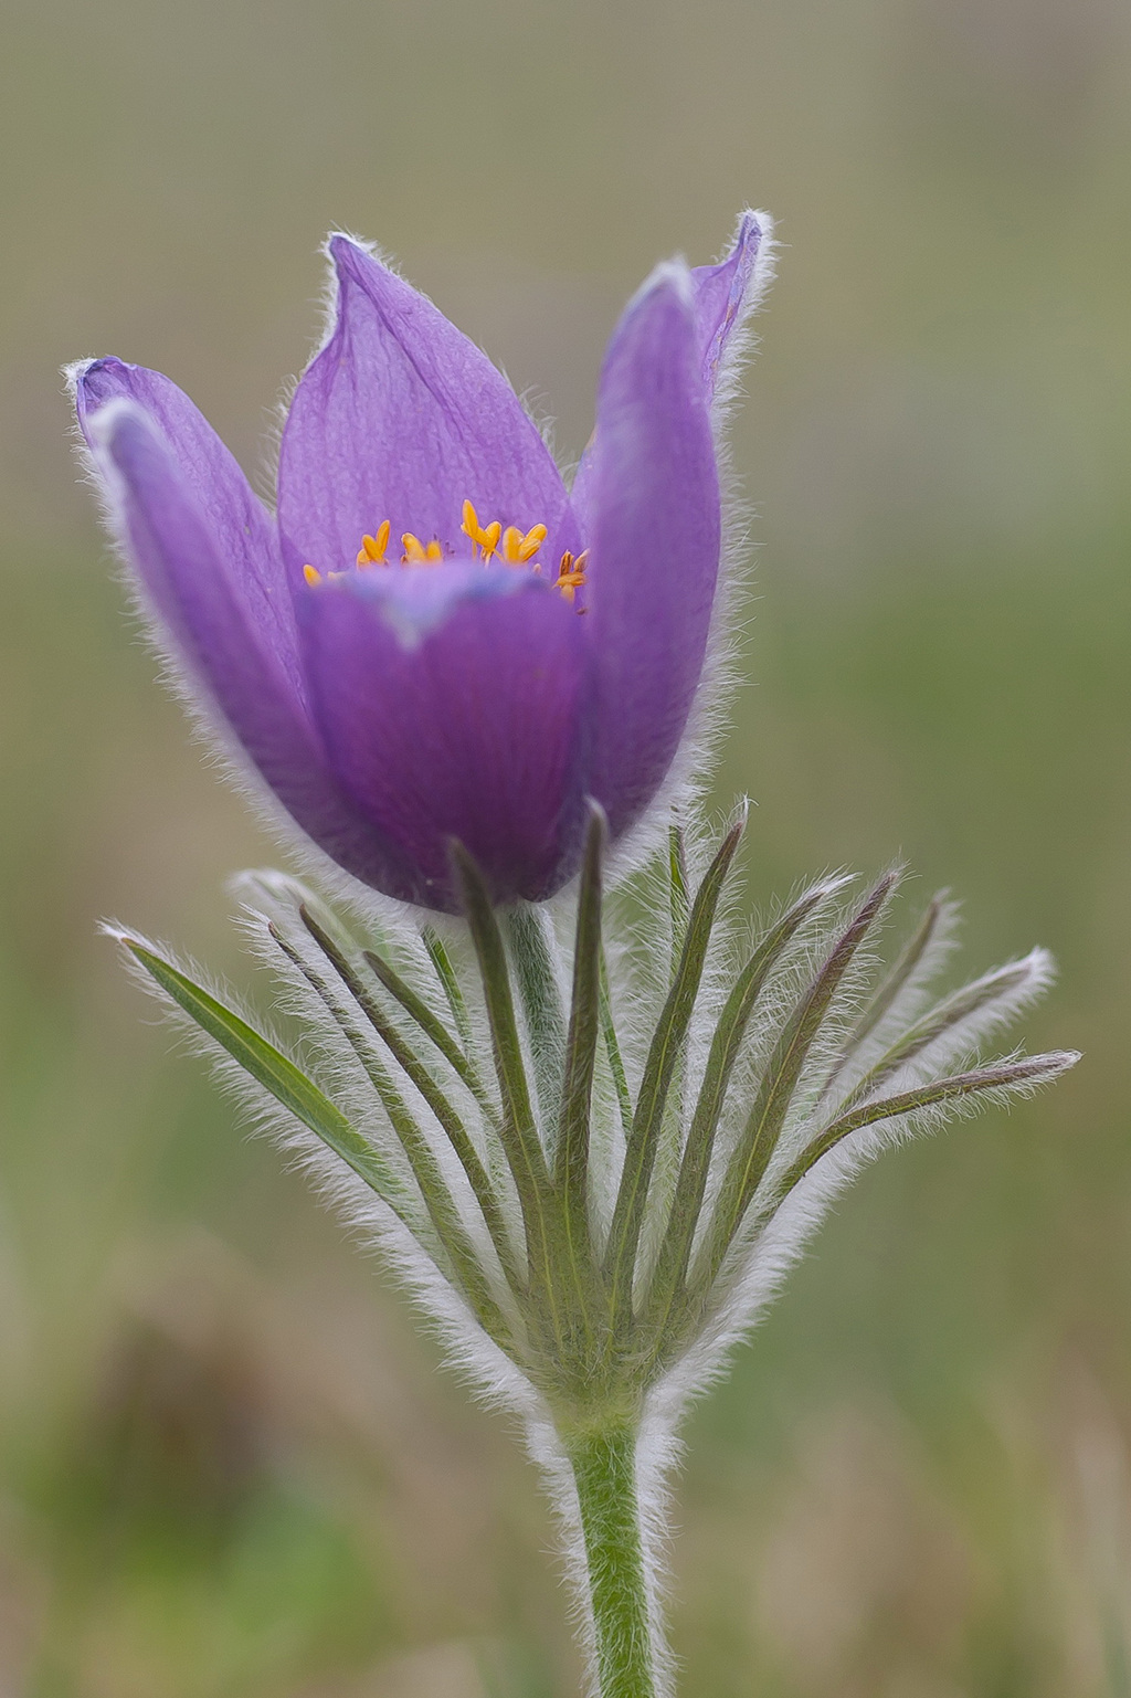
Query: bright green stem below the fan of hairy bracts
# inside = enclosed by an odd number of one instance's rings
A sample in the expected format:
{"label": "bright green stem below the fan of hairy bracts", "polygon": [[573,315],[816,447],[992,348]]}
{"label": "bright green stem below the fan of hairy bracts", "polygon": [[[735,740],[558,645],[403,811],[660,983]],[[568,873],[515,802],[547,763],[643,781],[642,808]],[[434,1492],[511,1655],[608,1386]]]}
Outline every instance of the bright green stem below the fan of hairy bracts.
{"label": "bright green stem below the fan of hairy bracts", "polygon": [[599,1698],[659,1698],[637,1501],[637,1431],[623,1418],[566,1442],[586,1547]]}

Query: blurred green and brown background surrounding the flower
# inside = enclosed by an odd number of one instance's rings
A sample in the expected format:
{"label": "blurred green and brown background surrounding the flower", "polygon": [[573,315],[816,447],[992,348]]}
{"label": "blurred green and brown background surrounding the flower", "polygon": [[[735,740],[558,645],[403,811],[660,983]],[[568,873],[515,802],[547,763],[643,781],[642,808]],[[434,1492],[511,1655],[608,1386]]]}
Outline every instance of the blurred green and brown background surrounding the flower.
{"label": "blurred green and brown background surrounding the flower", "polygon": [[620,302],[785,241],[718,795],[751,900],[903,852],[1049,944],[1051,1095],[888,1156],[689,1426],[695,1698],[1131,1693],[1131,15],[1119,0],[5,0],[0,1693],[564,1698],[504,1426],[95,936],[246,980],[277,859],[112,582],[58,367],[253,469],[331,224],[557,418]]}

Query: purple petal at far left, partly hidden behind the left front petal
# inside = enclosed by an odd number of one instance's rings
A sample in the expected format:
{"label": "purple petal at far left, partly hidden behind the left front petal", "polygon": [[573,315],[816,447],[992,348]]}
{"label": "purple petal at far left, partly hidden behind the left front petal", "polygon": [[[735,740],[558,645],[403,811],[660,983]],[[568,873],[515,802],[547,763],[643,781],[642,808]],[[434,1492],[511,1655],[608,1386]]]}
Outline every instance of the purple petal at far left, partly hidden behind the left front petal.
{"label": "purple petal at far left, partly hidden behind the left front petal", "polygon": [[90,441],[90,418],[110,401],[134,401],[165,436],[200,514],[216,538],[238,599],[292,683],[301,688],[294,603],[279,531],[236,458],[187,394],[144,365],[88,360],[75,372],[75,409]]}

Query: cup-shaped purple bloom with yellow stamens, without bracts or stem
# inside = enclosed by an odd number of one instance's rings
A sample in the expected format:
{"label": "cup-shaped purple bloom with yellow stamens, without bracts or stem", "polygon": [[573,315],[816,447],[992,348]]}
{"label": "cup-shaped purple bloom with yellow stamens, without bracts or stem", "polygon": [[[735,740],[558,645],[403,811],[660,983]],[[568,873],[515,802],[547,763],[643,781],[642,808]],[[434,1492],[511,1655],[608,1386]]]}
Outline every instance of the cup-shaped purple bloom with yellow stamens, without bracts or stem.
{"label": "cup-shaped purple bloom with yellow stamens, without bracts or stem", "polygon": [[747,212],[720,265],[661,265],[628,304],[572,491],[489,360],[346,236],[275,516],[166,377],[76,367],[146,606],[270,791],[367,885],[452,908],[459,839],[496,900],[543,900],[577,869],[589,796],[613,839],[657,796],[708,647],[712,409],[766,234]]}

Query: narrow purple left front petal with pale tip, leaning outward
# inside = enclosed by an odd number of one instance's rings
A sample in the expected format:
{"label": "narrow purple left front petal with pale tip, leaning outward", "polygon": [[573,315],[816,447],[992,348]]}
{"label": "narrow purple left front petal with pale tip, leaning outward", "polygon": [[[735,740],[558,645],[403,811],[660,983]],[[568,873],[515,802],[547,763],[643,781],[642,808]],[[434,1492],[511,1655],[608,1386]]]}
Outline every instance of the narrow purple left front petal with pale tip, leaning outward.
{"label": "narrow purple left front petal with pale tip, leaning outward", "polygon": [[151,419],[121,399],[87,430],[148,599],[268,786],[346,871],[377,890],[408,883],[396,852],[328,773],[299,693],[250,620],[207,516]]}

